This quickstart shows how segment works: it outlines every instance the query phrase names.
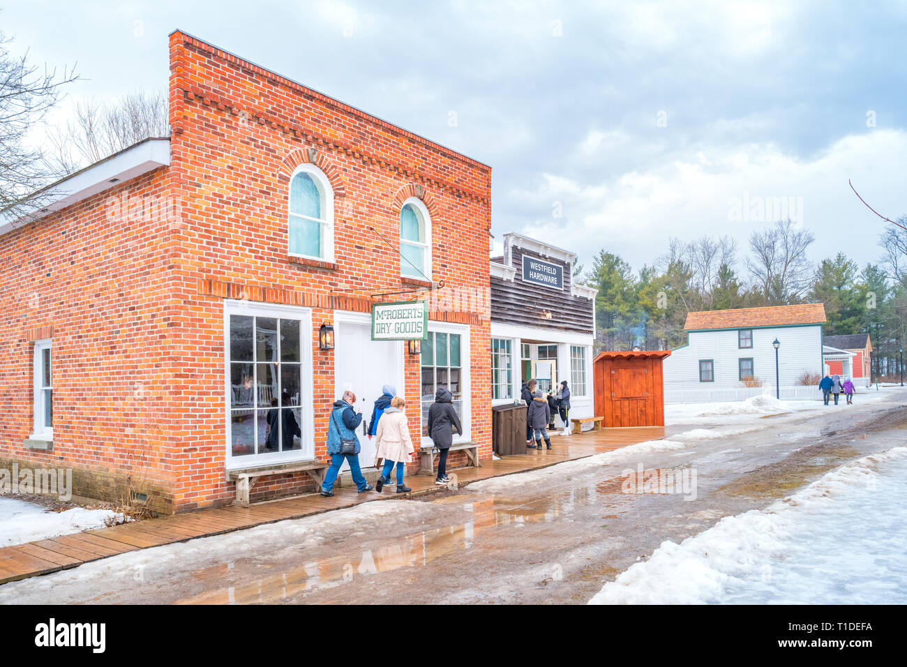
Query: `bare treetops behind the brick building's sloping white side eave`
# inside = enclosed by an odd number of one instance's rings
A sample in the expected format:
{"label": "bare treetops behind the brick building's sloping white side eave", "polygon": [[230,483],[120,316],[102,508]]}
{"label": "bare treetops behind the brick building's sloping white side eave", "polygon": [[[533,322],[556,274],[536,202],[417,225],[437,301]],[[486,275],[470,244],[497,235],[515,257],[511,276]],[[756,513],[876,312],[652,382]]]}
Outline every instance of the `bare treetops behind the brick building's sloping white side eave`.
{"label": "bare treetops behind the brick building's sloping white side eave", "polygon": [[163,91],[130,93],[115,103],[75,103],[73,119],[49,137],[55,166],[66,173],[103,160],[149,137],[170,135]]}

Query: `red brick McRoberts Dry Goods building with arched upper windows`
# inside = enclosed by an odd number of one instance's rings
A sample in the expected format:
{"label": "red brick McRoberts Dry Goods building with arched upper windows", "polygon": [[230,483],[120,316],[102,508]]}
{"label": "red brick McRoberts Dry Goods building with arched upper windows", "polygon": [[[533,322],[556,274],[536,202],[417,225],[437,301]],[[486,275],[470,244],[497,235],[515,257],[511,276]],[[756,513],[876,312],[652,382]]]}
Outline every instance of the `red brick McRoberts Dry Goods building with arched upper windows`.
{"label": "red brick McRoberts Dry Goods building with arched upper windows", "polygon": [[[132,486],[161,512],[216,505],[228,471],[327,458],[343,387],[367,419],[383,384],[414,434],[449,385],[490,457],[491,168],[179,31],[170,66],[169,138],[0,221],[0,466],[72,466],[76,495]],[[420,299],[421,353],[372,340],[373,303]],[[272,437],[271,410],[299,432]],[[252,499],[315,480],[264,477]]]}

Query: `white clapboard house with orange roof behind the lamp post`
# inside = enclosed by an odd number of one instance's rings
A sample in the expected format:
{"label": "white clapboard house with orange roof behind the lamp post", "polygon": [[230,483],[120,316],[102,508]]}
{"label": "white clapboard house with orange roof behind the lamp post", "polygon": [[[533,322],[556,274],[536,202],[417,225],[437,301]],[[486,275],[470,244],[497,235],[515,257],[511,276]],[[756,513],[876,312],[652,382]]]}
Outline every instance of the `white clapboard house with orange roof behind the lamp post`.
{"label": "white clapboard house with orange roof behind the lamp post", "polygon": [[818,387],[802,384],[802,378],[824,370],[824,323],[821,303],[691,312],[684,326],[687,343],[663,362],[665,401],[775,396],[778,385],[782,400],[819,397]]}

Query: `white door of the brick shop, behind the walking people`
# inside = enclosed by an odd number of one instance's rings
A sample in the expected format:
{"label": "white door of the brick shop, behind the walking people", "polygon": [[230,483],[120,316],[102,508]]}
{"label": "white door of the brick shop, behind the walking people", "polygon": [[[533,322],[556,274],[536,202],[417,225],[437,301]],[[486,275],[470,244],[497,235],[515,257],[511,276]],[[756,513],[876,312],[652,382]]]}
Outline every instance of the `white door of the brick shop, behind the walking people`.
{"label": "white door of the brick shop, behind the walking people", "polygon": [[[372,340],[371,324],[363,321],[338,319],[335,340],[335,394],[337,398],[342,397],[344,388],[352,386],[356,394],[356,411],[362,412],[363,420],[363,424],[356,429],[360,447],[359,466],[374,466],[375,439],[366,436],[366,429],[375,398],[381,396],[381,387],[394,385],[398,392],[403,391],[400,381],[403,348],[397,341]],[[342,469],[348,470],[349,466],[344,463]]]}

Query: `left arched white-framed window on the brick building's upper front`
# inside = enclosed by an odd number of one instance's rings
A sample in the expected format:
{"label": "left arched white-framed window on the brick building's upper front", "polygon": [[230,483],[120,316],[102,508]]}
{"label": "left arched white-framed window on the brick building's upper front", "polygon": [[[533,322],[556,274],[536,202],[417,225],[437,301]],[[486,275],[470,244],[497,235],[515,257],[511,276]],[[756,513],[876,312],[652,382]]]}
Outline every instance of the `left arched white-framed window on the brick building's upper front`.
{"label": "left arched white-framed window on the brick building's upper front", "polygon": [[302,164],[289,183],[289,254],[334,260],[334,191],[324,172]]}

